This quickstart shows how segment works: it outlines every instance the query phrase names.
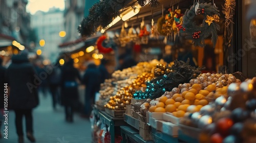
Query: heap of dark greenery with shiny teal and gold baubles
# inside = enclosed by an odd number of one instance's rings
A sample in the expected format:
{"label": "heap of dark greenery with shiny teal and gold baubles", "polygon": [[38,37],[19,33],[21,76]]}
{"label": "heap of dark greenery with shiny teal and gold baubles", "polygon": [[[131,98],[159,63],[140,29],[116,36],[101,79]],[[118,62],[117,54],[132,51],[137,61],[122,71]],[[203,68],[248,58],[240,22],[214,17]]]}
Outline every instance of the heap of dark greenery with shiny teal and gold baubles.
{"label": "heap of dark greenery with shiny teal and gold baubles", "polygon": [[[156,76],[151,81],[146,82],[145,92],[136,91],[135,98],[145,97],[145,99],[156,99],[162,96],[165,91],[172,91],[174,87],[178,87],[180,83],[189,82],[190,79],[196,78],[201,73],[201,68],[191,67],[187,62],[178,61],[174,62],[172,67],[166,65],[160,66],[154,70]],[[165,69],[166,67],[166,69]],[[168,70],[167,70],[168,68]],[[165,71],[169,73],[165,73]],[[163,75],[164,74],[164,75]],[[162,76],[161,76],[162,75]]]}

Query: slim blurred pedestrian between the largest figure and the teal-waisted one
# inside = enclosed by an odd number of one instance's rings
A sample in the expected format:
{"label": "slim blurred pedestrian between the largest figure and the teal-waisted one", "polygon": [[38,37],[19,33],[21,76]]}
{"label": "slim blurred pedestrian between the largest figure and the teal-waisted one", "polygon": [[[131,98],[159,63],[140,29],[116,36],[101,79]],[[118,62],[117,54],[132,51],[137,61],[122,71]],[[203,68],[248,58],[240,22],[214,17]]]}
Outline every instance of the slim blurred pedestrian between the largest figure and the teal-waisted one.
{"label": "slim blurred pedestrian between the largest figure and the teal-waisted one", "polygon": [[60,103],[59,87],[60,87],[60,80],[61,80],[61,70],[58,63],[56,63],[55,65],[52,65],[51,68],[52,68],[52,73],[49,75],[48,83],[49,83],[50,93],[52,95],[52,107],[53,109],[56,109],[56,104]]}

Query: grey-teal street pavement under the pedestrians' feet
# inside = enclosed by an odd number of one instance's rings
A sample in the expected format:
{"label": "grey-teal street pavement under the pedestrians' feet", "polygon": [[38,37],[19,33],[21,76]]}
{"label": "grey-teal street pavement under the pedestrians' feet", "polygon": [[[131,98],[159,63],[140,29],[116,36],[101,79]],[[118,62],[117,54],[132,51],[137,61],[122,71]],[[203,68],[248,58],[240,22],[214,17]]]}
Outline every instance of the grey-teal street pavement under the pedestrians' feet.
{"label": "grey-teal street pavement under the pedestrians' feet", "polygon": [[[81,118],[75,113],[74,122],[65,121],[65,112],[62,106],[52,108],[51,97],[44,97],[39,94],[40,104],[33,110],[34,136],[37,143],[90,143],[91,124],[89,119]],[[15,128],[15,114],[10,111],[8,114],[8,139],[2,138],[2,143],[16,143],[18,140]],[[26,135],[25,117],[23,118],[24,134]],[[4,127],[1,127],[3,135]],[[3,135],[4,136],[4,135]],[[24,136],[25,143],[30,141]]]}

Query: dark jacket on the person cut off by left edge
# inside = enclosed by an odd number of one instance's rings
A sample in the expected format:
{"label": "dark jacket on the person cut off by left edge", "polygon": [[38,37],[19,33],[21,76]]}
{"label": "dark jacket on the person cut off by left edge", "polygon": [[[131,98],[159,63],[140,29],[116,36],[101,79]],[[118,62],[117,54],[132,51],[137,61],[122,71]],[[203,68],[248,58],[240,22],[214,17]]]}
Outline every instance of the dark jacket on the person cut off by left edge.
{"label": "dark jacket on the person cut off by left edge", "polygon": [[[4,91],[6,90],[6,88],[4,87],[4,84],[6,83],[5,81],[5,73],[6,73],[6,68],[3,67],[2,65],[0,65],[0,90],[1,90],[1,94],[0,94],[0,109],[4,108],[4,96],[5,93]],[[6,90],[8,92],[8,89]]]}

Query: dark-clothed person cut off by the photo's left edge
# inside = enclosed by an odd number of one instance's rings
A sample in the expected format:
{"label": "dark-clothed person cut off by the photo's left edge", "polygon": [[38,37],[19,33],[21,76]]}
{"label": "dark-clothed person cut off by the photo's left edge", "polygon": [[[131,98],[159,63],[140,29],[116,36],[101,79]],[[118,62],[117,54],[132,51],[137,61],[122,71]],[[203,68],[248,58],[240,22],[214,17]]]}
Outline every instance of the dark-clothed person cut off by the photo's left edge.
{"label": "dark-clothed person cut off by the photo's left edge", "polygon": [[[1,80],[0,80],[0,90],[1,90],[1,94],[0,94],[0,129],[1,129],[1,125],[3,124],[4,121],[4,99],[5,99],[5,91],[8,91],[7,88],[5,88],[5,73],[6,73],[6,68],[2,65],[3,63],[3,59],[0,57],[0,76],[1,76]],[[0,131],[0,138],[2,138],[2,134]]]}

